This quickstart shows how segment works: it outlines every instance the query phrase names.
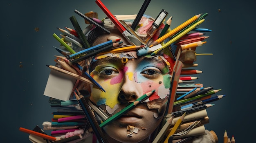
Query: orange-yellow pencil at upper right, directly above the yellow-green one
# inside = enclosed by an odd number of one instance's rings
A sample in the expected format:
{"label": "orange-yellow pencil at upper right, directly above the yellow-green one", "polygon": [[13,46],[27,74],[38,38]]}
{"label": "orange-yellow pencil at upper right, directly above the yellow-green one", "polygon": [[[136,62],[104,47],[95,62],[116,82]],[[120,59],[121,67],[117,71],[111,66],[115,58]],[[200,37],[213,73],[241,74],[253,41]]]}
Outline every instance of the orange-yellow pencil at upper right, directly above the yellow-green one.
{"label": "orange-yellow pencil at upper right, directly above the yellow-green one", "polygon": [[175,29],[169,31],[168,33],[166,33],[165,35],[163,35],[162,37],[158,38],[157,40],[155,40],[155,42],[153,42],[149,47],[155,46],[161,42],[163,42],[164,40],[166,40],[168,37],[173,36],[175,33],[177,33],[178,31],[184,29],[186,26],[188,26],[189,24],[191,24],[192,22],[194,22],[195,20],[197,20],[199,17],[201,16],[201,14],[195,15],[192,18],[190,18],[189,20],[185,21],[184,23],[180,24],[179,26],[177,26]]}

